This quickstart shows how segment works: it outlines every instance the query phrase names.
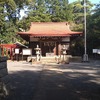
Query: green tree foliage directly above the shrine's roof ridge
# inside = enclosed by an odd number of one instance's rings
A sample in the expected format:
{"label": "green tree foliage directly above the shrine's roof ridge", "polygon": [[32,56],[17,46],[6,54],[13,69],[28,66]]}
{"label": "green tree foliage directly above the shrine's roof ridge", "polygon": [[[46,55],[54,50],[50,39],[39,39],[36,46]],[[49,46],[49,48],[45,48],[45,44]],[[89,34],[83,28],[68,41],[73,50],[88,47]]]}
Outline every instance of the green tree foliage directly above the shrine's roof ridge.
{"label": "green tree foliage directly above the shrine's roof ridge", "polygon": [[28,14],[36,22],[72,21],[73,17],[68,0],[35,0],[29,5]]}

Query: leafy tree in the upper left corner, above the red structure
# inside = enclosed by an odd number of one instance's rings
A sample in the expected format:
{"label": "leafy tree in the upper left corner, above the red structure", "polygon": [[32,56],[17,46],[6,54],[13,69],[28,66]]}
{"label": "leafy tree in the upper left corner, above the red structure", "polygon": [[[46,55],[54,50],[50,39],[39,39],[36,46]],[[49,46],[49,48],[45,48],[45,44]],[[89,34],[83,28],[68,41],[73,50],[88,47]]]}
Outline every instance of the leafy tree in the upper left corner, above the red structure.
{"label": "leafy tree in the upper left corner, above the red structure", "polygon": [[13,42],[18,30],[20,10],[31,0],[0,0],[0,38],[4,43]]}

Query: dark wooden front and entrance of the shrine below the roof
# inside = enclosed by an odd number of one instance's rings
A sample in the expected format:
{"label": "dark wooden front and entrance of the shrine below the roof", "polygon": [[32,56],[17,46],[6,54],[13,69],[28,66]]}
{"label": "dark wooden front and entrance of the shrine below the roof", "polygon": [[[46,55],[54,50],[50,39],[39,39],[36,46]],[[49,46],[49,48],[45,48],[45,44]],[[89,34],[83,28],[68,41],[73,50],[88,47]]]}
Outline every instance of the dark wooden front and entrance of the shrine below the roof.
{"label": "dark wooden front and entrance of the shrine below the roof", "polygon": [[46,57],[53,57],[56,55],[61,55],[61,50],[63,48],[63,45],[67,49],[69,49],[69,41],[66,42],[64,41],[67,40],[67,38],[64,37],[39,37],[39,38],[33,38],[33,40],[30,42],[30,48],[32,48],[32,55],[36,55],[36,51],[34,48],[38,45],[39,48],[41,49],[41,56],[46,56]]}

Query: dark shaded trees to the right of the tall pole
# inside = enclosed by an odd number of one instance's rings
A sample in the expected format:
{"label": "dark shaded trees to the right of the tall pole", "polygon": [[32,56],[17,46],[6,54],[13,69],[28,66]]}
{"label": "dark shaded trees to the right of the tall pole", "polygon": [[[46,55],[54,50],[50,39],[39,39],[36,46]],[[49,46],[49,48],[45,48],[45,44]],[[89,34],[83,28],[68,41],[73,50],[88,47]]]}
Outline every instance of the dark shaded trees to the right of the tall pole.
{"label": "dark shaded trees to the right of the tall pole", "polygon": [[100,48],[100,4],[96,6],[95,12],[88,17],[87,47],[90,54],[92,49]]}

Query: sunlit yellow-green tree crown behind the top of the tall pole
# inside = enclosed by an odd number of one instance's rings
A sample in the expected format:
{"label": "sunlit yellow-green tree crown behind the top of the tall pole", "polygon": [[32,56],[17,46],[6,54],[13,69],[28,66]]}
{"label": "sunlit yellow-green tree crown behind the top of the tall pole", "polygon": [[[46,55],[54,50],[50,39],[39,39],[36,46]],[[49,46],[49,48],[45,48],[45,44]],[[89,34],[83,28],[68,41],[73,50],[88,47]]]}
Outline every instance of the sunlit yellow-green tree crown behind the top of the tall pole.
{"label": "sunlit yellow-green tree crown behind the top of the tall pole", "polygon": [[[84,21],[84,0],[78,0],[72,3],[73,4],[73,13],[74,13],[74,21],[75,23],[83,23]],[[86,11],[87,16],[91,15],[91,8],[93,7],[93,4],[86,0]]]}

